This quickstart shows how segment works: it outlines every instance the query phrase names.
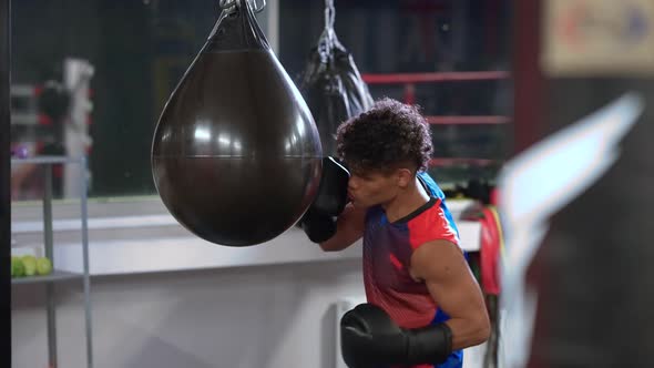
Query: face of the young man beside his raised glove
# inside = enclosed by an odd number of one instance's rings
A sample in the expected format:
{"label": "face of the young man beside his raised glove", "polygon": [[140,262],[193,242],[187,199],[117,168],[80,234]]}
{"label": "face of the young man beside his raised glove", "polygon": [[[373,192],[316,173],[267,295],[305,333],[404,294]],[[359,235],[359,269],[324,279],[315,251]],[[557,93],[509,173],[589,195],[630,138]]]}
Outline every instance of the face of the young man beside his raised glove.
{"label": "face of the young man beside his raised glove", "polygon": [[370,207],[390,202],[398,193],[398,177],[395,172],[351,171],[348,195],[357,207]]}

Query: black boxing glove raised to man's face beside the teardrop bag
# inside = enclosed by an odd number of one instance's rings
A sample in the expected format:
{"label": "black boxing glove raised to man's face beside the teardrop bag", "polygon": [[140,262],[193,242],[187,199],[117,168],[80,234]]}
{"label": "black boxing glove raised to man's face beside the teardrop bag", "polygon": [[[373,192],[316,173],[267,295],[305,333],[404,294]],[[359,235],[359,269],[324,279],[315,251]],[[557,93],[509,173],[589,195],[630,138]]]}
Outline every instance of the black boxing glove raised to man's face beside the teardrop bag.
{"label": "black boxing glove raised to man's face beside the teardrop bag", "polygon": [[323,177],[318,194],[299,221],[299,225],[314,243],[323,243],[336,234],[336,217],[347,204],[349,172],[334,157],[323,159]]}

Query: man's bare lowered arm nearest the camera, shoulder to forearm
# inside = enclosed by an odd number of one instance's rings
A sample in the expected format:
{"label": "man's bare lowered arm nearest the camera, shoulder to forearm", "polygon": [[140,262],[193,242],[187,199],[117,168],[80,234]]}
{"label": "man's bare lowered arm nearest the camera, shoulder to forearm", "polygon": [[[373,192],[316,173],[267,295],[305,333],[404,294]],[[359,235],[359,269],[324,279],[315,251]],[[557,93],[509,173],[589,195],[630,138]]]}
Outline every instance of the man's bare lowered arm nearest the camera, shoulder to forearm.
{"label": "man's bare lowered arm nearest the camera, shoulder to forearm", "polygon": [[490,321],[483,295],[472,276],[462,252],[448,241],[422,244],[411,256],[411,276],[423,280],[450,319],[452,349],[486,341]]}

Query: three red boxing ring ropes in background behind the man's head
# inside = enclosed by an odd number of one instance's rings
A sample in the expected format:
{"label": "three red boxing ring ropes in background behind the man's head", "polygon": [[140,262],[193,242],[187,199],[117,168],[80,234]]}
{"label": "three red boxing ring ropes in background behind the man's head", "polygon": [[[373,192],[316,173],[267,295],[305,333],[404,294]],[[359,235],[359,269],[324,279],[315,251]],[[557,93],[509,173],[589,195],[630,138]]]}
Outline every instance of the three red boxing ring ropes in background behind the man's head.
{"label": "three red boxing ring ropes in background behind the man's head", "polygon": [[[511,78],[508,71],[470,71],[470,72],[433,72],[433,73],[384,73],[361,74],[368,84],[403,84],[405,103],[416,103],[416,84],[442,83],[442,82],[470,82],[470,81],[498,81]],[[432,125],[500,125],[511,122],[511,117],[501,115],[432,115],[425,116]],[[429,166],[490,166],[497,164],[497,160],[471,157],[433,157]]]}

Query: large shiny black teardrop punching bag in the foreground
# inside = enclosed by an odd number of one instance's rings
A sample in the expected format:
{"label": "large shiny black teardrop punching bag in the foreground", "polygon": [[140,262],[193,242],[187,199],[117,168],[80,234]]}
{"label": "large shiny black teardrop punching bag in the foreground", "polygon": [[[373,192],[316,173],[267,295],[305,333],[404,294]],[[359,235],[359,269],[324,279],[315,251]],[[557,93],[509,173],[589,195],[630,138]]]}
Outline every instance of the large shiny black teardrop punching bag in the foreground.
{"label": "large shiny black teardrop punching bag in the foreground", "polygon": [[152,171],[184,227],[215,244],[251,246],[304,214],[317,192],[323,151],[308,106],[248,1],[222,9],[163,109]]}

